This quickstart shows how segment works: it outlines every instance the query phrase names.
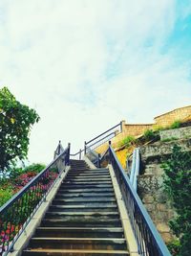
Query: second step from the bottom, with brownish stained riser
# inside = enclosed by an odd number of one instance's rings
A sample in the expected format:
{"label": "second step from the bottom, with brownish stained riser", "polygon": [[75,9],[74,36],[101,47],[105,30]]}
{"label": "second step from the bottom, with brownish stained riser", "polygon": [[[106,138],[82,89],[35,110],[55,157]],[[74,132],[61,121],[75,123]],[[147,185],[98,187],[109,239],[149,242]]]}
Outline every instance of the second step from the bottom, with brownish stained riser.
{"label": "second step from the bottom, with brownish stained riser", "polygon": [[56,249],[126,249],[126,241],[122,238],[32,238],[29,248]]}

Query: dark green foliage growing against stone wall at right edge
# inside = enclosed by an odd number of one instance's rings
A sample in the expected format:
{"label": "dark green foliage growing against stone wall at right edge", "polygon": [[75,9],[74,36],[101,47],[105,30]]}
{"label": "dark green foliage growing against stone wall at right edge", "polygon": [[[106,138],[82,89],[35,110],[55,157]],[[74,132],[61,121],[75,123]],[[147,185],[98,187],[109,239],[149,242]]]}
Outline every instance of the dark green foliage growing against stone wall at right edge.
{"label": "dark green foliage growing against stone wall at right edge", "polygon": [[191,152],[177,145],[171,158],[163,165],[164,187],[177,212],[170,227],[180,240],[179,256],[191,253]]}

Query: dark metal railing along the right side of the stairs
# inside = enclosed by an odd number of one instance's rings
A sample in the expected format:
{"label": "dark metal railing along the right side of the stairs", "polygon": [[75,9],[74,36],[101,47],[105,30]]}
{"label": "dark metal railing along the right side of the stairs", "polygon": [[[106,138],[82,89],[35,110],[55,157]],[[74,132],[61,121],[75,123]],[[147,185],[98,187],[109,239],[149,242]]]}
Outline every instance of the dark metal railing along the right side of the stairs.
{"label": "dark metal railing along the right side of the stairs", "polygon": [[157,228],[148,215],[128,175],[122,169],[115,151],[109,146],[110,163],[113,166],[120,191],[142,256],[170,256]]}

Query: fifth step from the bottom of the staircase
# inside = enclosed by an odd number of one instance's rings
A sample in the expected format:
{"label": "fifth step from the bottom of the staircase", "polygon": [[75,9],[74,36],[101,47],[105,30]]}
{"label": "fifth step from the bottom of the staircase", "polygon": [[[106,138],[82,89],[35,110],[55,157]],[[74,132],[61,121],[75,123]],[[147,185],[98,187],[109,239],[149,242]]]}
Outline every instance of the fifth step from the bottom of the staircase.
{"label": "fifth step from the bottom of the staircase", "polygon": [[80,221],[81,219],[92,219],[92,218],[99,218],[101,220],[104,219],[117,219],[119,218],[118,212],[58,212],[58,211],[49,211],[45,215],[46,219],[62,219],[62,220],[75,220],[77,219]]}

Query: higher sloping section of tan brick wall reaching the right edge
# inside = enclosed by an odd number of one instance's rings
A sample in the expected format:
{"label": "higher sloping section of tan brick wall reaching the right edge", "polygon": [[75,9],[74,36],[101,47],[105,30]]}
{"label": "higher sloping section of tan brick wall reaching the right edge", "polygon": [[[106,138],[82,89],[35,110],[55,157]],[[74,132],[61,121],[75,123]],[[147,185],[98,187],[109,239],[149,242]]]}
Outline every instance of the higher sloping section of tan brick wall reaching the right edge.
{"label": "higher sloping section of tan brick wall reaching the right edge", "polygon": [[161,127],[169,127],[175,121],[181,121],[191,115],[191,105],[174,109],[154,118],[155,123]]}

